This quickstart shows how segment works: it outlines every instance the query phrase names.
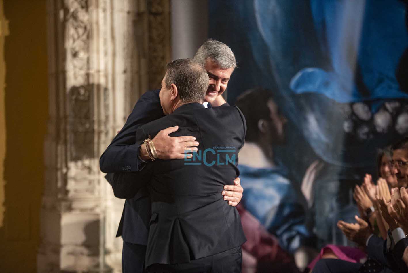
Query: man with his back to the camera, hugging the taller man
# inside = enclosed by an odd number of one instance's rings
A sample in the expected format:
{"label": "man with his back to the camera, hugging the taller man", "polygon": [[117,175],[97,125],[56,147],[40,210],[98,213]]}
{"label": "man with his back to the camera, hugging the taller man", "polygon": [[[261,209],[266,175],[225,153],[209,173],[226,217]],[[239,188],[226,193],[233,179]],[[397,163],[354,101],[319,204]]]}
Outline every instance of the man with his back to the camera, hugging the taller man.
{"label": "man with his back to the camera, hugging the taller man", "polygon": [[193,159],[158,159],[139,172],[113,176],[117,197],[136,195],[140,188],[149,191],[148,272],[241,272],[240,247],[246,238],[237,209],[226,204],[221,192],[239,175],[237,157],[246,123],[237,107],[202,105],[207,83],[206,71],[194,60],[170,62],[159,94],[166,116],[141,125],[135,137],[144,140],[152,158],[150,138],[180,124],[173,135],[190,134],[199,143]]}

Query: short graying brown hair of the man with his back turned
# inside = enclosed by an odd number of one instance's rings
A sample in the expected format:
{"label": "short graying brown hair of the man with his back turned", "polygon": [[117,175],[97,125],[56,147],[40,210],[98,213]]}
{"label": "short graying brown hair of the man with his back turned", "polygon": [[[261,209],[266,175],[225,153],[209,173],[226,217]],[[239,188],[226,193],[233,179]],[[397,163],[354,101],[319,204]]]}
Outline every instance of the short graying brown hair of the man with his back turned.
{"label": "short graying brown hair of the man with his back turned", "polygon": [[204,67],[195,60],[186,58],[173,60],[166,65],[164,83],[170,88],[177,86],[180,100],[184,103],[202,102],[207,92],[208,74]]}

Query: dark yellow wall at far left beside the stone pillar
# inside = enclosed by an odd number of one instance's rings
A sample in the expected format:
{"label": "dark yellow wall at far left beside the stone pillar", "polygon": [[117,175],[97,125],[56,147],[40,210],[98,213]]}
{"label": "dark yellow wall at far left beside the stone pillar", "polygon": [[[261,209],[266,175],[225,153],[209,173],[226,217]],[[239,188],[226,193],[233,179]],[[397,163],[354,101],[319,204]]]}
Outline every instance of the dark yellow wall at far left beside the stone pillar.
{"label": "dark yellow wall at far left beside the stone pillar", "polygon": [[[0,49],[7,68],[5,88],[0,73],[0,96],[4,96],[3,105],[0,99],[0,130],[4,130],[4,117],[6,129],[3,174],[0,168],[0,201],[5,181],[0,272],[31,273],[36,272],[40,239],[43,143],[48,119],[46,1],[0,1],[9,21],[4,51]],[[4,69],[1,57],[0,69]],[[2,145],[4,134],[0,133],[0,164]]]}

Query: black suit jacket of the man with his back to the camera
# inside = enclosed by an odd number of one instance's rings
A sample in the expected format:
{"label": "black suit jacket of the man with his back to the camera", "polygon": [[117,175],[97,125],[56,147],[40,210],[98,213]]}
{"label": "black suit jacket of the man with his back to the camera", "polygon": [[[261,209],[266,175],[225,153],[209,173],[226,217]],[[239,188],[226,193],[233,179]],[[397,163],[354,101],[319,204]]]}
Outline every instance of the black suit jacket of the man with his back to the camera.
{"label": "black suit jacket of the man with his back to the camera", "polygon": [[[179,125],[172,136],[193,135],[195,160],[156,160],[132,175],[115,174],[115,195],[133,195],[149,182],[152,202],[146,266],[186,263],[242,245],[246,239],[236,208],[221,194],[239,176],[237,153],[246,124],[236,107],[211,109],[188,103],[171,115],[140,126],[136,141]],[[204,155],[205,154],[205,155]],[[233,162],[235,159],[235,162]]]}

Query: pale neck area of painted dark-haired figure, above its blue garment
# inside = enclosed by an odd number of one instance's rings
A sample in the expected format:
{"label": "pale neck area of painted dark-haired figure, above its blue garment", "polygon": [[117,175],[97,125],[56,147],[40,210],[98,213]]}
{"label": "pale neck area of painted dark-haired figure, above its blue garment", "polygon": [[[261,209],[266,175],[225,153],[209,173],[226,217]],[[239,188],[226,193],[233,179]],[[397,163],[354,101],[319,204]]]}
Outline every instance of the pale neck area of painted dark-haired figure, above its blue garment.
{"label": "pale neck area of painted dark-haired figure, above its blue garment", "polygon": [[272,168],[275,162],[268,158],[262,148],[255,142],[245,142],[238,154],[239,164],[252,168]]}

